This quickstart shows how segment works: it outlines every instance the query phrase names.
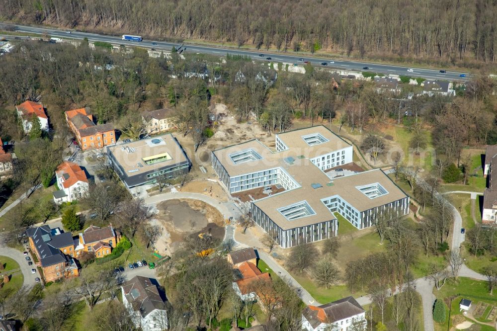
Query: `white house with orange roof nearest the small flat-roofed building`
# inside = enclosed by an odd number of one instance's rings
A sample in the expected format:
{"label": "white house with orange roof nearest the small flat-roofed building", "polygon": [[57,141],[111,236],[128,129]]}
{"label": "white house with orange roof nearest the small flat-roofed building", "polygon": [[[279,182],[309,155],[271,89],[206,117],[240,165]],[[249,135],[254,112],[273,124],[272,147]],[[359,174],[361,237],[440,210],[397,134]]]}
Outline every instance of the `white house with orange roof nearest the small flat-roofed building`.
{"label": "white house with orange roof nearest the small flat-roofed building", "polygon": [[60,190],[54,191],[54,201],[57,204],[72,202],[81,199],[88,191],[88,179],[84,170],[77,164],[65,161],[55,171],[57,186]]}

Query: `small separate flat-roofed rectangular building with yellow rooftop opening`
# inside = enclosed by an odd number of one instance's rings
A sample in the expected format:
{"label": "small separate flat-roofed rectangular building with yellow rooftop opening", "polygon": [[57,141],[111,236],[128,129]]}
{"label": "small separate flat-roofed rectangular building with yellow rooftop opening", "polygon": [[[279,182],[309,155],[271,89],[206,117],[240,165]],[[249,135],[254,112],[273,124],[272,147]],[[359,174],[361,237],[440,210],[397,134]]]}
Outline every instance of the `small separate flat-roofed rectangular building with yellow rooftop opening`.
{"label": "small separate flat-roofed rectangular building with yellow rooftop opening", "polygon": [[114,171],[126,187],[152,184],[157,176],[177,177],[191,162],[171,134],[107,147]]}

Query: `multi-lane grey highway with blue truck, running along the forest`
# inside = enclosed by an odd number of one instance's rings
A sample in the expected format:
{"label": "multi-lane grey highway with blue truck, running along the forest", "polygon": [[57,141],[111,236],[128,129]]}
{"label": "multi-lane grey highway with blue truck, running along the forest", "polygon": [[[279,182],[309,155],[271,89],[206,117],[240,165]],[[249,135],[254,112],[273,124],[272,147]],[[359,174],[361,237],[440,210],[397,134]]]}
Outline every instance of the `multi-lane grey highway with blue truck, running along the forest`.
{"label": "multi-lane grey highway with blue truck, running along the forest", "polygon": [[[33,27],[33,26],[24,26],[24,25],[12,25],[8,24],[10,27],[14,26],[15,31],[25,32],[25,33],[33,33],[33,34],[43,34],[47,33],[51,37],[61,37],[61,38],[74,38],[74,39],[83,39],[88,38],[89,41],[103,41],[117,45],[126,45],[126,46],[140,46],[147,49],[156,49],[156,50],[165,50],[170,51],[173,46],[178,46],[177,43],[163,42],[163,41],[153,41],[153,40],[143,40],[141,42],[133,42],[133,41],[124,41],[121,36],[108,36],[87,32],[79,32],[71,30],[58,30],[53,28],[46,27]],[[459,73],[447,71],[445,74],[439,73],[438,70],[432,69],[421,69],[421,68],[408,68],[402,66],[393,66],[393,65],[385,65],[385,64],[375,64],[375,63],[366,63],[366,62],[354,62],[354,61],[343,61],[343,60],[333,60],[331,58],[314,58],[314,57],[304,57],[290,54],[272,54],[272,53],[264,53],[263,51],[253,52],[246,50],[237,50],[237,49],[228,49],[228,48],[218,48],[218,47],[210,47],[210,46],[198,46],[198,45],[184,45],[185,52],[191,53],[203,53],[203,54],[211,54],[218,56],[225,56],[226,54],[231,55],[246,55],[249,56],[253,60],[260,61],[268,61],[267,58],[271,58],[272,62],[286,62],[286,63],[295,63],[298,65],[303,65],[304,61],[309,61],[311,64],[315,66],[321,66],[322,63],[326,62],[328,68],[333,68],[337,70],[343,71],[370,71],[375,73],[382,73],[386,75],[405,75],[410,77],[420,77],[424,79],[430,80],[446,80],[451,82],[466,82],[471,79],[471,75],[467,73]],[[260,56],[262,55],[262,56]],[[368,67],[368,70],[364,70],[364,67]],[[446,69],[446,68],[440,68]],[[408,71],[408,70],[412,70]],[[466,77],[460,77],[461,74],[465,74]]]}

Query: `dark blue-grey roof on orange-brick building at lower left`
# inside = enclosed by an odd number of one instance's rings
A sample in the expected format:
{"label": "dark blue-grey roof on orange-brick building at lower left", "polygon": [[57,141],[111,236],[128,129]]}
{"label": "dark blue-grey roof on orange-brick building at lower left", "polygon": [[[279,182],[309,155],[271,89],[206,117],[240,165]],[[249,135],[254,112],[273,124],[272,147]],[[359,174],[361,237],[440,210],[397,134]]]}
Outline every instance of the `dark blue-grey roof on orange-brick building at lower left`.
{"label": "dark blue-grey roof on orange-brick building at lower left", "polygon": [[[68,234],[56,234],[55,231],[50,229],[50,226],[43,225],[41,227],[29,228],[26,230],[27,235],[32,239],[34,248],[40,256],[40,263],[46,267],[53,264],[63,263],[69,261],[67,256],[56,247],[64,247],[72,245],[67,242]],[[56,237],[64,235],[60,240]],[[54,243],[52,243],[54,241]],[[65,245],[67,244],[67,245]],[[64,246],[60,246],[64,245]]]}

